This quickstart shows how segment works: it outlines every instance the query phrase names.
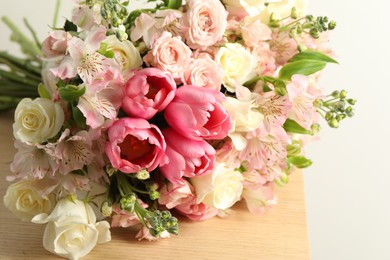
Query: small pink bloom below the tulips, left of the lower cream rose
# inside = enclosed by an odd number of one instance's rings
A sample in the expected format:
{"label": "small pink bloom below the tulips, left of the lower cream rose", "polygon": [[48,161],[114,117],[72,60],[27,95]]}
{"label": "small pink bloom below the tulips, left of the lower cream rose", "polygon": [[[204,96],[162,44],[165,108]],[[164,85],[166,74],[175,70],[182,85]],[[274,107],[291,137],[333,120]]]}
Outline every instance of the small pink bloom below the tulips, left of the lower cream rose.
{"label": "small pink bloom below the tulips, left of the lower cream rose", "polygon": [[194,188],[191,184],[182,179],[180,182],[168,182],[159,190],[158,203],[172,209],[178,205],[185,204],[193,199]]}

